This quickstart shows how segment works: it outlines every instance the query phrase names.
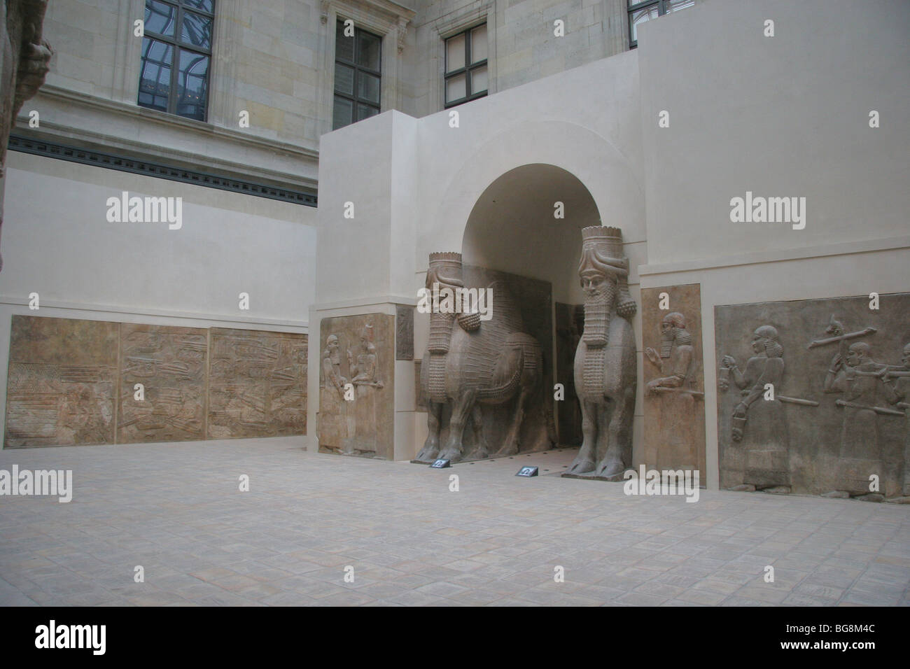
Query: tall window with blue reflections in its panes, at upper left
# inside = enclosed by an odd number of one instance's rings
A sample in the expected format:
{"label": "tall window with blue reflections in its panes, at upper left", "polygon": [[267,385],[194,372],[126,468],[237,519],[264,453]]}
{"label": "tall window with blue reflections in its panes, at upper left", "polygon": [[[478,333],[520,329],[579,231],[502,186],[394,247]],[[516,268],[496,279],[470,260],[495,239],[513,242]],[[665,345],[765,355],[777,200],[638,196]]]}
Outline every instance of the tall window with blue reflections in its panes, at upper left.
{"label": "tall window with blue reflections in its panes, at upper left", "polygon": [[146,0],[139,106],[206,120],[215,0]]}

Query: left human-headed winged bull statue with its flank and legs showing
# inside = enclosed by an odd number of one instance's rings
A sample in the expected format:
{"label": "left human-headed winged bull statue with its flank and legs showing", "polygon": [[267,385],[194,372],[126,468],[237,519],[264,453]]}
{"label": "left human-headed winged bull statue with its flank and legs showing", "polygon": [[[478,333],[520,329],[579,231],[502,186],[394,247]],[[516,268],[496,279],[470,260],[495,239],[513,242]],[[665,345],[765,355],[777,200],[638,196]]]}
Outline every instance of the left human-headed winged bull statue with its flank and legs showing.
{"label": "left human-headed winged bull statue with its flank and legs showing", "polygon": [[[464,287],[460,253],[431,253],[426,287]],[[491,319],[481,322],[474,312],[430,314],[430,340],[420,365],[420,386],[427,401],[430,433],[416,460],[485,458],[490,454],[483,434],[481,404],[514,401],[508,434],[497,455],[519,451],[521,423],[529,400],[541,391],[543,357],[541,345],[524,332],[521,312],[500,281],[490,285],[494,305]],[[456,323],[458,327],[455,327]],[[451,405],[449,435],[440,449],[442,411]],[[548,422],[555,439],[552,415]],[[463,452],[464,430],[470,419],[475,446]]]}

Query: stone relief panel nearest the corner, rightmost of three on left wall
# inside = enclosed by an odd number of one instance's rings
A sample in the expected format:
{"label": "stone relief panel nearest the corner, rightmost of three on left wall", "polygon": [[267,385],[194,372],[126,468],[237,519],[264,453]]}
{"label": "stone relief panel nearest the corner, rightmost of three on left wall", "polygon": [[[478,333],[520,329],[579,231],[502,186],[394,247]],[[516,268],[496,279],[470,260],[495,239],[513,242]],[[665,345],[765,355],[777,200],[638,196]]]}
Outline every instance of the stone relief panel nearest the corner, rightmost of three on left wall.
{"label": "stone relief panel nearest the corner, rightmost of three on left wall", "polygon": [[209,439],[307,433],[307,335],[212,328]]}

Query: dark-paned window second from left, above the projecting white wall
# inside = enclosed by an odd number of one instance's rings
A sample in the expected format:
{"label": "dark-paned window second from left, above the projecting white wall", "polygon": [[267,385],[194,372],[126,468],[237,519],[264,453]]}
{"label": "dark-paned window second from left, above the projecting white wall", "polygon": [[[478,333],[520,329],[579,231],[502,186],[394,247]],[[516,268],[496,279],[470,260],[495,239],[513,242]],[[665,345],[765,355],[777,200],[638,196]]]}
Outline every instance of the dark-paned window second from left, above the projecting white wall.
{"label": "dark-paned window second from left, above the projecting white wall", "polygon": [[379,114],[382,37],[344,22],[335,26],[335,106],[332,129]]}

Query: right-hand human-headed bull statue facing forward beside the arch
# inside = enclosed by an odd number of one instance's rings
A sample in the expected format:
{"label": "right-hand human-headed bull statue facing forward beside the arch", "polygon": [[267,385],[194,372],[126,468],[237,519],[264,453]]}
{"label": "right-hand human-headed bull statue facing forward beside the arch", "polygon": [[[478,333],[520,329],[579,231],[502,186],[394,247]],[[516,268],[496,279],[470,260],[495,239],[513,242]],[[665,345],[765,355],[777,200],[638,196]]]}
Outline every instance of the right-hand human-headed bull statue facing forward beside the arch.
{"label": "right-hand human-headed bull statue facing forward beside the arch", "polygon": [[629,319],[637,309],[629,294],[622,230],[583,228],[578,271],[585,303],[584,332],[575,352],[575,390],[581,400],[583,437],[566,473],[593,471],[620,481],[632,463],[636,356]]}

